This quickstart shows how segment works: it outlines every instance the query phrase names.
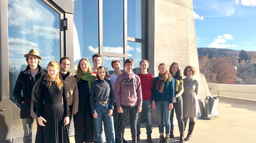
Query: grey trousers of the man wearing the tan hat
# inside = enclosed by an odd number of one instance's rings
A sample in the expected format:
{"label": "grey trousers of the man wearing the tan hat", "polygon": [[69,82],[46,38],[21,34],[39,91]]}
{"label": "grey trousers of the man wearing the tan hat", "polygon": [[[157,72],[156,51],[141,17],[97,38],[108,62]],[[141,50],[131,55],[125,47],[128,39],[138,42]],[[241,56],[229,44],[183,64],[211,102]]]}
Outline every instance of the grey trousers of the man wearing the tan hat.
{"label": "grey trousers of the man wearing the tan hat", "polygon": [[[32,143],[32,128],[33,128],[33,118],[22,119],[22,125],[24,130],[23,142],[24,143]],[[37,126],[38,120],[36,119]]]}

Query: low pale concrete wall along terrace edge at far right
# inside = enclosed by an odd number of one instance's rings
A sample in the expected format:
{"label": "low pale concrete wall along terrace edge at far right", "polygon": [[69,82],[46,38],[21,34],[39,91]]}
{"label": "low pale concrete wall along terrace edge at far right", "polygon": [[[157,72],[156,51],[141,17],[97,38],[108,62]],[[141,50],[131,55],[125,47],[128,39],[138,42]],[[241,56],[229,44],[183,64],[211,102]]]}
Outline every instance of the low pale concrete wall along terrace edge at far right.
{"label": "low pale concrete wall along terrace edge at far right", "polygon": [[256,101],[256,85],[207,83],[211,94]]}

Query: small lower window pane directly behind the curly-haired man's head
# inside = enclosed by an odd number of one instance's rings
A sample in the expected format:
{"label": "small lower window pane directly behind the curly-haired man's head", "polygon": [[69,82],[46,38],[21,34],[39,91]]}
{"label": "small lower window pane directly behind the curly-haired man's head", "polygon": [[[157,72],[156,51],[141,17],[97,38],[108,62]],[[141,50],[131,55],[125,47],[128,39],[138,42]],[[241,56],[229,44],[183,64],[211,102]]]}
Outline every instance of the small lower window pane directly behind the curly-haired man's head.
{"label": "small lower window pane directly behind the curly-haired man's head", "polygon": [[108,71],[109,75],[115,73],[115,70],[112,68],[111,62],[112,60],[120,60],[121,61],[121,71],[124,71],[124,58],[119,58],[119,57],[107,57],[103,56],[103,65]]}

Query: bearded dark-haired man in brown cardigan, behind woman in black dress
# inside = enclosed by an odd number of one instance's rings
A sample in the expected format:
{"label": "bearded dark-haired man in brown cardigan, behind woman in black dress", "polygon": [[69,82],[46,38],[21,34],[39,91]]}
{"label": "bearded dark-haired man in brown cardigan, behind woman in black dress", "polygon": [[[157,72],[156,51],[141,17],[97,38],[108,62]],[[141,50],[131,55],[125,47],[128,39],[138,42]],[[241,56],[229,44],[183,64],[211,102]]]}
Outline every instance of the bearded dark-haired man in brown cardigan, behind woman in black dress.
{"label": "bearded dark-haired man in brown cardigan, behind woman in black dress", "polygon": [[[68,104],[69,104],[69,120],[71,121],[72,115],[75,115],[78,112],[78,87],[77,80],[68,72],[70,68],[70,58],[62,57],[60,59],[60,75],[62,80],[65,81],[68,85]],[[68,127],[70,123],[68,124]]]}

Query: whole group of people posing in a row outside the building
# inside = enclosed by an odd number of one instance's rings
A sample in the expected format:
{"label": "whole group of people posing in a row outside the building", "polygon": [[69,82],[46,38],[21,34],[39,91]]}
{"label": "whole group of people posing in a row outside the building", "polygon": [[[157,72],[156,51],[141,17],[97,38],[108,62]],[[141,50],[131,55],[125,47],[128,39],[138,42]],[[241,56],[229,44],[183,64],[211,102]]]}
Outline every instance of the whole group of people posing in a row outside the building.
{"label": "whole group of people posing in a row outside the building", "polygon": [[[28,66],[21,71],[13,91],[21,104],[20,117],[24,143],[32,142],[33,121],[37,122],[36,143],[69,143],[70,120],[74,120],[75,142],[103,143],[103,125],[107,143],[127,143],[124,131],[129,113],[132,142],[140,141],[141,110],[146,112],[147,141],[153,143],[152,108],[156,110],[160,143],[174,138],[174,109],[178,120],[180,142],[191,139],[200,109],[197,100],[199,82],[193,77],[195,69],[187,66],[182,79],[179,65],[158,66],[157,77],[148,73],[147,60],[140,62],[141,72],[133,73],[133,59],[111,62],[115,73],[109,75],[101,65],[101,55],[92,56],[93,68],[82,58],[73,76],[68,72],[71,60],[62,57],[51,61],[47,71],[39,66],[42,57],[32,49],[25,54]],[[184,132],[189,118],[188,135]],[[165,137],[164,125],[165,121]]]}

